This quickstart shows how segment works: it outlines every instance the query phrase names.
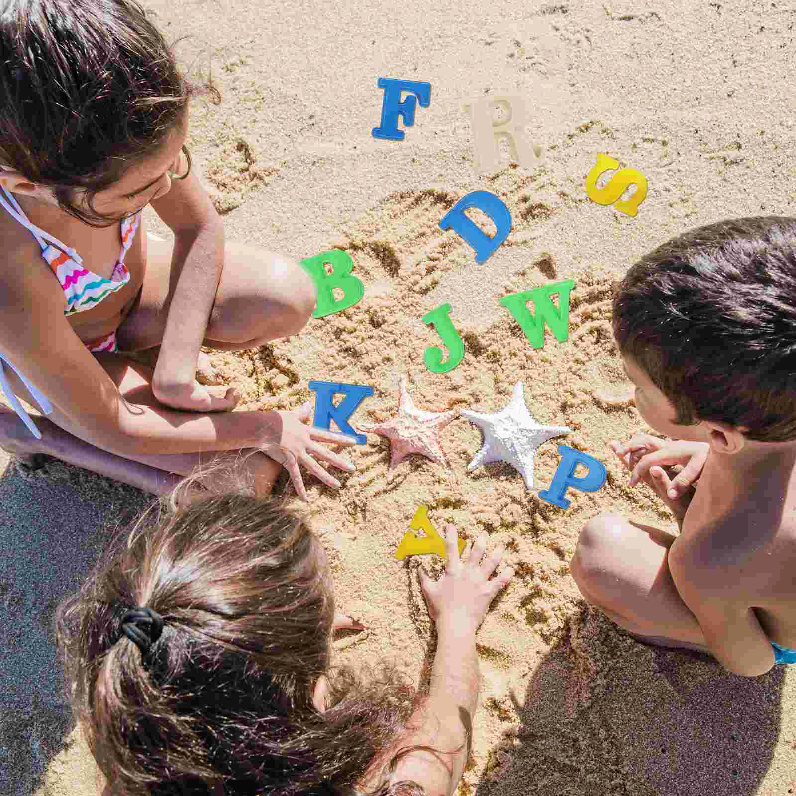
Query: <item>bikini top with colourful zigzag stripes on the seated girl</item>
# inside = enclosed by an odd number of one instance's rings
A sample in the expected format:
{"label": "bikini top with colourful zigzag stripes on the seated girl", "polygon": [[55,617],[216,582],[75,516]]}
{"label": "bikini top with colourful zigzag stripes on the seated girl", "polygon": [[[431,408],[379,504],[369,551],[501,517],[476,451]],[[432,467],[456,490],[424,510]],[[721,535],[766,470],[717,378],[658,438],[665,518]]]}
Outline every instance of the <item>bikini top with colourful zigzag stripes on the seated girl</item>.
{"label": "bikini top with colourful zigzag stripes on the seated girl", "polygon": [[[139,210],[135,216],[122,220],[120,228],[122,251],[119,253],[119,259],[116,261],[111,279],[105,279],[104,276],[84,268],[83,259],[73,248],[62,244],[60,240],[50,235],[49,232],[45,232],[43,229],[31,224],[28,217],[22,212],[18,201],[14,198],[14,194],[9,193],[3,185],[0,185],[0,188],[2,188],[2,193],[6,195],[14,207],[8,204],[2,194],[0,194],[0,205],[23,227],[33,233],[33,237],[36,238],[41,246],[41,256],[47,260],[49,267],[60,282],[60,287],[64,289],[64,299],[66,301],[64,315],[73,315],[76,312],[91,310],[107,295],[120,290],[130,281],[130,271],[127,271],[127,266],[124,264],[124,256],[133,243],[135,232],[139,228],[141,221],[142,211]],[[50,242],[49,245],[45,243],[47,240]]]}

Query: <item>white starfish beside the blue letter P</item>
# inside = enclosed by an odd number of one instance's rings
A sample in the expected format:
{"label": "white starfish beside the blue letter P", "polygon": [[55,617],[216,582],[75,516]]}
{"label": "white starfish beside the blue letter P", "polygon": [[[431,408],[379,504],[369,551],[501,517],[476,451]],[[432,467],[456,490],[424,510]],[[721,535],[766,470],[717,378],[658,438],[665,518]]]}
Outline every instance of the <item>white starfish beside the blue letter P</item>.
{"label": "white starfish beside the blue letter P", "polygon": [[533,486],[533,451],[548,439],[572,431],[563,426],[540,426],[525,406],[523,384],[514,385],[507,407],[493,415],[462,410],[462,417],[475,423],[484,435],[484,443],[467,470],[475,470],[490,462],[508,462],[525,478],[525,486]]}

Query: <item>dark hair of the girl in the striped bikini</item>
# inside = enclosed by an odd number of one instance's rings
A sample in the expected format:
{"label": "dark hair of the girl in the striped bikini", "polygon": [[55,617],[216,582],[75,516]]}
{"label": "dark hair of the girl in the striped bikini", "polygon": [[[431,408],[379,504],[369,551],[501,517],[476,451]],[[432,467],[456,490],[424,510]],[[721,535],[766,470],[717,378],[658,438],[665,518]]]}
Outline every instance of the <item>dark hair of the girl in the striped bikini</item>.
{"label": "dark hair of the girl in the striped bikini", "polygon": [[52,188],[60,209],[86,224],[119,221],[96,213],[96,193],[157,151],[189,100],[207,95],[220,102],[211,82],[178,71],[135,0],[0,6],[0,162]]}

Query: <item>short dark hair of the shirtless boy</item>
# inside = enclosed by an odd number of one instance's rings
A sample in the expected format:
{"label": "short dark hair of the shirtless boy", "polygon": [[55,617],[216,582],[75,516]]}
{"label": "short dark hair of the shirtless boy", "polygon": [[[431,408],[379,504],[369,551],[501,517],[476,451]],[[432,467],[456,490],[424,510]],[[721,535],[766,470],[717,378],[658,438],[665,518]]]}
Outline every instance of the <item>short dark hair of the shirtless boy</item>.
{"label": "short dark hair of the shirtless boy", "polygon": [[667,241],[622,279],[613,326],[673,422],[796,439],[796,218],[725,220]]}

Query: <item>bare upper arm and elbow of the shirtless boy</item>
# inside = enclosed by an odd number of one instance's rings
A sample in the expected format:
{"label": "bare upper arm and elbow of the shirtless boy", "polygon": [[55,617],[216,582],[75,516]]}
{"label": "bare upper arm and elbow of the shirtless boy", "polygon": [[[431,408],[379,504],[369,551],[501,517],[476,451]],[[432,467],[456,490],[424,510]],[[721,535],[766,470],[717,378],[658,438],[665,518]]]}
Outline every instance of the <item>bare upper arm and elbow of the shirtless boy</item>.
{"label": "bare upper arm and elbow of the shirtless boy", "polygon": [[743,599],[739,577],[727,568],[696,564],[673,544],[669,572],[677,591],[700,623],[710,651],[726,669],[745,677],[765,674],[774,665],[774,648],[749,600]]}

